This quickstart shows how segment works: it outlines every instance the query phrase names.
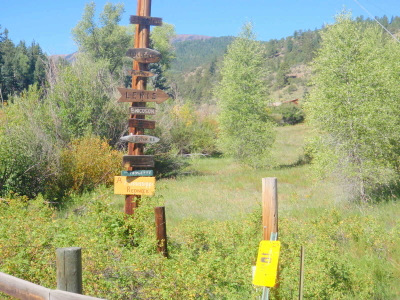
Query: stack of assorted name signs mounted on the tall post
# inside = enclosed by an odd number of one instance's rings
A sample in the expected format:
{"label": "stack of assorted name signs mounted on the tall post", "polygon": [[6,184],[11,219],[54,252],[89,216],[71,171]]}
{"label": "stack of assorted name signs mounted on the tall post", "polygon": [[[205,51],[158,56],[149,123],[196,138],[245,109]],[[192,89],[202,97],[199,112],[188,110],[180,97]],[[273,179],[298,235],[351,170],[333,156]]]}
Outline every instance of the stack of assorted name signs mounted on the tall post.
{"label": "stack of assorted name signs mounted on the tall post", "polygon": [[[162,25],[161,18],[152,18],[144,16],[131,16],[131,24],[140,24],[144,26]],[[141,64],[157,63],[161,59],[160,52],[149,48],[135,48],[129,49],[126,55],[133,58]],[[138,77],[151,77],[153,73],[145,70],[131,70],[132,76]],[[158,104],[164,102],[169,98],[168,94],[161,91],[147,91],[138,89],[118,88],[121,94],[118,102],[156,102]],[[135,116],[154,115],[155,108],[132,106],[130,107],[130,114]],[[129,119],[130,128],[154,129],[155,121],[145,120],[144,118],[131,118]],[[150,135],[143,134],[130,134],[121,137],[122,141],[136,144],[157,143],[160,139]],[[155,192],[155,177],[153,177],[153,170],[145,168],[154,167],[154,157],[152,155],[124,155],[123,167],[124,171],[121,176],[115,176],[114,179],[114,193],[118,195],[153,195]],[[129,171],[132,170],[133,171]]]}

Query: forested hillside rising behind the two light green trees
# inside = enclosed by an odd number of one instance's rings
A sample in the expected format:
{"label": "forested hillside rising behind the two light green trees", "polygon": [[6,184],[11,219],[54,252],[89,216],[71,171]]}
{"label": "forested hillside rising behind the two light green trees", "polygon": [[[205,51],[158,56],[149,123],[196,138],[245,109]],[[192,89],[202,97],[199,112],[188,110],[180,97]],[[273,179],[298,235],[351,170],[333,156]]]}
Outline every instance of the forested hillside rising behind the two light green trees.
{"label": "forested hillside rising behind the two light green trees", "polygon": [[[383,16],[377,20],[393,33],[400,29],[400,17],[389,20]],[[357,17],[356,21],[365,25],[376,22],[363,17]],[[272,102],[302,99],[308,93],[308,65],[320,47],[322,30],[323,27],[296,30],[291,36],[262,43],[266,57],[265,84]],[[216,37],[174,43],[176,60],[171,68],[170,85],[178,98],[194,104],[215,103],[210,91],[219,81],[219,63],[233,39]]]}

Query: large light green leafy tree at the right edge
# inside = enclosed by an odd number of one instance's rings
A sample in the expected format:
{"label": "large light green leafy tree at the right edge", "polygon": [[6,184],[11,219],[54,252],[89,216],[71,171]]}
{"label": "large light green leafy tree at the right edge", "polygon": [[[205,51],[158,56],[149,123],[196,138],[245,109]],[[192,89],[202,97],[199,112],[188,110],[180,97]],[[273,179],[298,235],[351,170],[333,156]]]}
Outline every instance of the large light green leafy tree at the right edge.
{"label": "large light green leafy tree at the right edge", "polygon": [[399,178],[400,47],[375,24],[343,13],[322,32],[305,105],[315,165],[340,171],[351,195],[368,200]]}

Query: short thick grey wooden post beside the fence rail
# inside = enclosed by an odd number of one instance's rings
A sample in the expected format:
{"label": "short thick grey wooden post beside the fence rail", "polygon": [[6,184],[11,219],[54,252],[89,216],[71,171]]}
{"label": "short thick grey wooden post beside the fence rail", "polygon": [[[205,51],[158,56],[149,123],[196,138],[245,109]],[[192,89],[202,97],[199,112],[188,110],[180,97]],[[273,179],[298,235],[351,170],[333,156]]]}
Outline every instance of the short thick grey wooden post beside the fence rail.
{"label": "short thick grey wooden post beside the fence rail", "polygon": [[82,294],[82,254],[81,248],[58,248],[57,289]]}

